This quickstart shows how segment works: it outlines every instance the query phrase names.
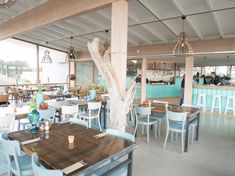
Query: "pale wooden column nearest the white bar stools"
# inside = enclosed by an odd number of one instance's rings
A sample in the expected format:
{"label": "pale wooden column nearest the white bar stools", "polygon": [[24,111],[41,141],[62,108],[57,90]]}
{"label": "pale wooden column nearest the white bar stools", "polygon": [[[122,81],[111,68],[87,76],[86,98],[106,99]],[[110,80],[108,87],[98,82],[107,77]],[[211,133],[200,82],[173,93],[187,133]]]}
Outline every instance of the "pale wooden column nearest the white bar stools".
{"label": "pale wooden column nearest the white bar stools", "polygon": [[184,86],[184,104],[192,104],[192,93],[193,93],[193,66],[194,57],[187,56],[185,58],[185,86]]}

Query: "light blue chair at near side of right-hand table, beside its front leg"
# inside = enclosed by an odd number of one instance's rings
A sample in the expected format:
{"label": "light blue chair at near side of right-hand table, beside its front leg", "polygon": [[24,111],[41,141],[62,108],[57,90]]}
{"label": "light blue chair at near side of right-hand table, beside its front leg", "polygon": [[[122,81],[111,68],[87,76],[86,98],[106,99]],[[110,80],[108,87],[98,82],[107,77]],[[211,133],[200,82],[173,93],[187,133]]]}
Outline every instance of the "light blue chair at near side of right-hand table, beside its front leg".
{"label": "light blue chair at near side of right-hand table, beside its front leg", "polygon": [[163,148],[166,148],[169,132],[181,133],[181,151],[184,152],[184,134],[186,123],[186,112],[166,111],[166,137]]}

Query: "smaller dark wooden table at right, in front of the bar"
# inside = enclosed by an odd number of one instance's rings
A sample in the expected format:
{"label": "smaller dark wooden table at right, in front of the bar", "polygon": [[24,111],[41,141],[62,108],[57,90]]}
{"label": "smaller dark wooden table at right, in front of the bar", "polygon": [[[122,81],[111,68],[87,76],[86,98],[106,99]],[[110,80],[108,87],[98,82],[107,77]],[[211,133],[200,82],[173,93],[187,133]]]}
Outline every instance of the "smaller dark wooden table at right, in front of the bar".
{"label": "smaller dark wooden table at right, in front of the bar", "polygon": [[[143,105],[140,105],[140,106],[143,106]],[[152,103],[151,107],[152,107],[151,113],[153,116],[154,116],[154,114],[165,114],[166,113],[166,107],[164,104]],[[176,105],[176,104],[169,104],[168,110],[173,111],[173,112],[187,112],[186,127],[185,127],[186,133],[185,133],[184,152],[188,152],[189,126],[194,121],[197,121],[196,140],[198,140],[201,110],[199,108],[195,108],[195,107],[186,107],[186,106],[180,106],[180,105]]]}

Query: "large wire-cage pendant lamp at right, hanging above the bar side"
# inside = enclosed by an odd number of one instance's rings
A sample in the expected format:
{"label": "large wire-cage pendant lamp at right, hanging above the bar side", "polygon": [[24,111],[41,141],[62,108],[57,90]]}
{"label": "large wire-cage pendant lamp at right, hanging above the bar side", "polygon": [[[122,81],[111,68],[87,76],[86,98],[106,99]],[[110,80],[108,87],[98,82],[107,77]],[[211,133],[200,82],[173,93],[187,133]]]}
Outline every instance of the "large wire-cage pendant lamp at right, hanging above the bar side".
{"label": "large wire-cage pendant lamp at right, hanging above the bar side", "polygon": [[188,42],[188,36],[184,32],[185,19],[186,19],[186,16],[182,16],[183,30],[179,34],[178,42],[176,43],[175,48],[173,49],[173,55],[175,55],[175,56],[193,55],[193,49]]}

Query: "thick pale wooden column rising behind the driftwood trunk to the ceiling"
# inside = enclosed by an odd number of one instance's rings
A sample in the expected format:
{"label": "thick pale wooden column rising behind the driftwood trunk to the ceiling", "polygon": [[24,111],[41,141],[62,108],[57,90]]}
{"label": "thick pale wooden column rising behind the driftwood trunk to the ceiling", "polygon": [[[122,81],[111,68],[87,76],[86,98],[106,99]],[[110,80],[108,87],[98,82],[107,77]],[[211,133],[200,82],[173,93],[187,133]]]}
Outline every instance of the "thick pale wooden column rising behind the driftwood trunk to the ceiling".
{"label": "thick pale wooden column rising behind the driftwood trunk to the ceiling", "polygon": [[128,2],[112,3],[111,63],[121,93],[126,91]]}

